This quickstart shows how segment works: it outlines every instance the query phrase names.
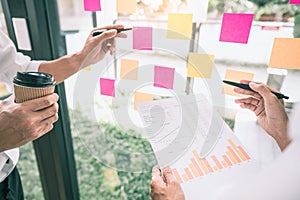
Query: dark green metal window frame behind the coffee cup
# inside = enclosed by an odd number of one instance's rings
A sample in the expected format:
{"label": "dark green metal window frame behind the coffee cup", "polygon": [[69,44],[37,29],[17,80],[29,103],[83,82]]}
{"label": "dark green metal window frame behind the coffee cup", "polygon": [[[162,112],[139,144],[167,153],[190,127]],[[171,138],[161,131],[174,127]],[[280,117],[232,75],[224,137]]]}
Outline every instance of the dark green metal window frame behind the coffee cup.
{"label": "dark green metal window frame behind the coffee cup", "polygon": [[[53,60],[66,54],[56,0],[1,0],[1,3],[9,36],[15,45],[12,17],[27,21],[32,51],[18,51],[35,60]],[[59,120],[52,131],[33,144],[45,199],[77,200],[78,182],[63,83],[56,87],[56,92],[60,96]]]}

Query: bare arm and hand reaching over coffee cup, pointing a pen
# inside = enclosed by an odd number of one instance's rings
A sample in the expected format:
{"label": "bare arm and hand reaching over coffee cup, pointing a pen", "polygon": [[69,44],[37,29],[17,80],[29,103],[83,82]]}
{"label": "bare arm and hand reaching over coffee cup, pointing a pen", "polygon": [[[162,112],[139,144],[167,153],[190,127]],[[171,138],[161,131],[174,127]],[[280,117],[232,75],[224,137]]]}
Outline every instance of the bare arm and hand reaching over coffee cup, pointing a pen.
{"label": "bare arm and hand reaching over coffee cup, pointing a pen", "polygon": [[[114,53],[114,37],[117,35],[117,28],[124,28],[122,25],[106,26],[97,28],[89,34],[83,49],[72,55],[66,55],[53,61],[43,62],[40,72],[52,74],[57,83],[64,81],[69,76],[78,72],[84,67],[95,64],[102,60],[107,53]],[[96,30],[112,29],[105,31],[99,36],[93,37],[92,33]],[[118,37],[126,37],[124,33],[119,33]]]}

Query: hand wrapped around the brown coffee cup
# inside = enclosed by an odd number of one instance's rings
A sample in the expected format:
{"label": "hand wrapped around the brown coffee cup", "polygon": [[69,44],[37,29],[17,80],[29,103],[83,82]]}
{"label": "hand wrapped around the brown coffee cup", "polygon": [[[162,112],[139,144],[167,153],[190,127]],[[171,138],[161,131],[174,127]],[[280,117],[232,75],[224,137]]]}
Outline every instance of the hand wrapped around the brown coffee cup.
{"label": "hand wrapped around the brown coffee cup", "polygon": [[20,147],[49,132],[58,119],[57,101],[57,94],[24,103],[14,103],[14,96],[2,101],[0,152]]}

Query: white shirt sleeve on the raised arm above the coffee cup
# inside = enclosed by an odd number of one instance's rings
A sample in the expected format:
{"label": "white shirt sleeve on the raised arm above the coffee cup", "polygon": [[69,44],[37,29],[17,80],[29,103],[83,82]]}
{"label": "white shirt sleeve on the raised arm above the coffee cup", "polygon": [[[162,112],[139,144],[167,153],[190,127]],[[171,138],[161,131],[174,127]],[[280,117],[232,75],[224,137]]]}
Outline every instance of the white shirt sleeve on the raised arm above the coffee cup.
{"label": "white shirt sleeve on the raised arm above the coffee cup", "polygon": [[[32,61],[30,57],[18,53],[13,42],[0,31],[0,73],[1,77],[6,80],[1,80],[11,85],[13,77],[18,71],[38,71],[42,62],[45,61]],[[2,78],[4,79],[4,78]]]}

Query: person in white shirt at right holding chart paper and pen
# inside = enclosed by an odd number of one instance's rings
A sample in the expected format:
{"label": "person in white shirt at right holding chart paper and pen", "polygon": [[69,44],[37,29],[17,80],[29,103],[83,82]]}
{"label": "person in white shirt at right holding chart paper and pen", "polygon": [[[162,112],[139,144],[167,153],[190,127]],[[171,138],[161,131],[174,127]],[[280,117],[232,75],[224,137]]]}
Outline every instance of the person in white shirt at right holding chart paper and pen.
{"label": "person in white shirt at right holding chart paper and pen", "polygon": [[[298,200],[300,199],[300,104],[293,109],[291,120],[282,100],[271,93],[271,88],[249,81],[255,91],[235,88],[235,92],[250,95],[236,100],[242,108],[253,111],[261,127],[272,136],[282,150],[282,155],[272,165],[220,192],[222,200]],[[201,194],[199,194],[201,195]],[[153,200],[183,200],[184,192],[170,168],[153,168],[150,196]],[[201,200],[199,198],[199,200]]]}

